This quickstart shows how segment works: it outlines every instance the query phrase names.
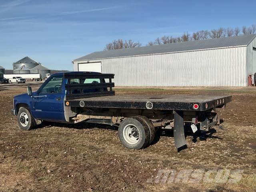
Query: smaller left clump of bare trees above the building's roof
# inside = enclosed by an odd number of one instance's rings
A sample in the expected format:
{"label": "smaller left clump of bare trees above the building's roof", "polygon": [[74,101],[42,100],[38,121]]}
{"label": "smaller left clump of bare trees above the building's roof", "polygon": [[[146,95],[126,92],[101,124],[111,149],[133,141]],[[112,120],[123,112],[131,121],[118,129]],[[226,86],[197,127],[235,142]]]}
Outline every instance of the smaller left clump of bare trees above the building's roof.
{"label": "smaller left clump of bare trees above the building's roof", "polygon": [[125,40],[122,39],[113,40],[111,43],[106,44],[104,50],[116,50],[116,49],[123,49],[123,48],[134,48],[140,47],[141,44],[139,42],[133,42],[132,40]]}

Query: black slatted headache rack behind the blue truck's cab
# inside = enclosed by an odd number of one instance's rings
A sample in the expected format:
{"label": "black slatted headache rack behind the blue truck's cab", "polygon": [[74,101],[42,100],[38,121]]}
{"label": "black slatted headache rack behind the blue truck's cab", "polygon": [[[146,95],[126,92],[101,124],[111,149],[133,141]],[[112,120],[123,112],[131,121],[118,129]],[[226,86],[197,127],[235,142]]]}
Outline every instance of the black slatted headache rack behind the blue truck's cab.
{"label": "black slatted headache rack behind the blue truck's cab", "polygon": [[[112,79],[114,74],[97,74],[97,73],[65,73],[64,78],[68,79],[68,83],[65,85],[66,99],[87,98],[96,96],[108,96],[114,95],[112,90],[114,83]],[[72,79],[78,79],[79,82],[72,82]],[[82,81],[86,79],[100,79],[100,82],[84,83]],[[105,79],[109,82],[106,83]]]}

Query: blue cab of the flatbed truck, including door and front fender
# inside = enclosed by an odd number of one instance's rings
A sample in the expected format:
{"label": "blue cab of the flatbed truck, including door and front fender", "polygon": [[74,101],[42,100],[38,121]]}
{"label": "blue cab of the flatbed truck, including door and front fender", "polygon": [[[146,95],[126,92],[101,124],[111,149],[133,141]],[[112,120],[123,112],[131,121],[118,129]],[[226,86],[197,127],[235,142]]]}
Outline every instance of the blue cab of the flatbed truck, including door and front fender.
{"label": "blue cab of the flatbed truck, including door and front fender", "polygon": [[[72,72],[69,72],[72,74]],[[81,72],[83,73],[83,72]],[[98,74],[90,72],[90,74]],[[98,83],[100,79],[84,79],[82,83]],[[64,73],[57,73],[49,78],[31,95],[21,94],[14,96],[14,114],[17,115],[19,108],[25,106],[29,109],[34,119],[53,122],[67,122],[64,116],[64,100],[66,98],[65,84],[68,79],[64,78]],[[70,84],[79,84],[79,79],[72,78]],[[84,90],[87,92],[97,91],[96,89]],[[79,94],[80,90],[72,90],[72,94]]]}

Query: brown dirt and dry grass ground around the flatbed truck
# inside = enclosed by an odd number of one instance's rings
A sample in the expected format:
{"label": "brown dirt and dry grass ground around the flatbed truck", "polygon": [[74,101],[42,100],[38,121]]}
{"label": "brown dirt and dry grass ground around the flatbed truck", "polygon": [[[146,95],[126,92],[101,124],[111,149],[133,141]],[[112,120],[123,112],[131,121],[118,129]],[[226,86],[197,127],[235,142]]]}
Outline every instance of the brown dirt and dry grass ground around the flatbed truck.
{"label": "brown dirt and dry grass ground around the flatbed truck", "polygon": [[[20,130],[12,116],[12,98],[26,84],[0,85],[0,191],[256,191],[256,87],[246,88],[115,88],[116,94],[232,95],[218,109],[222,126],[214,137],[188,134],[188,148],[177,152],[171,132],[158,132],[154,144],[128,150],[117,129],[98,124],[44,122]],[[39,83],[33,83],[36,90]],[[159,170],[243,170],[238,183],[147,182]]]}

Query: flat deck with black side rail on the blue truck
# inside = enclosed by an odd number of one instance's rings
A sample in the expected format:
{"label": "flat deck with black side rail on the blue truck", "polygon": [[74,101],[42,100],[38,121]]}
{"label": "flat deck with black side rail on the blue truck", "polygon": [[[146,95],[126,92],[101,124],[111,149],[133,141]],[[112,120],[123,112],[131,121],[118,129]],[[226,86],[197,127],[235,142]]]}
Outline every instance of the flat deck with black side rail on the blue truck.
{"label": "flat deck with black side rail on the blue truck", "polygon": [[[192,110],[206,111],[222,107],[232,101],[232,96],[201,96],[201,95],[171,95],[171,96],[98,96],[89,98],[68,99],[65,105],[92,108],[126,108],[126,109],[156,109],[156,110]],[[82,102],[82,105],[81,105]],[[148,104],[151,103],[151,104]],[[198,108],[194,108],[197,104]],[[148,105],[148,106],[147,106]],[[66,105],[67,106],[67,105]]]}

